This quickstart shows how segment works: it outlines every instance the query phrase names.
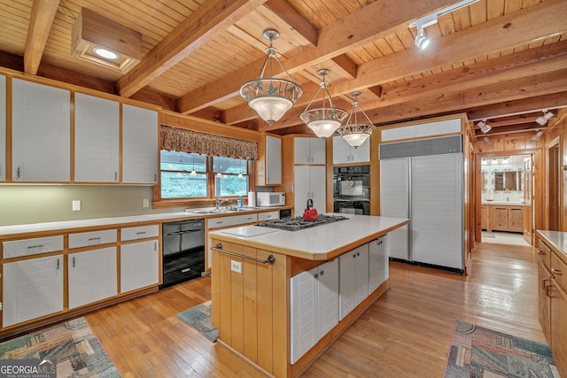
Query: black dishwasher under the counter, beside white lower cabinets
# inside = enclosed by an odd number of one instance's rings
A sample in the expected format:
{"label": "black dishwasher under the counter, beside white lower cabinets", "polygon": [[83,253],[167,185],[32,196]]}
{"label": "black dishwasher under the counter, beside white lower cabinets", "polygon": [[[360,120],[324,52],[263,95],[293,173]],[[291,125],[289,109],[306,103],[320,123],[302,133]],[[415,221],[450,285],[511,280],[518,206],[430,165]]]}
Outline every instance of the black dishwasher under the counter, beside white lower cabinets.
{"label": "black dishwasher under the counter, beside white lower cabinets", "polygon": [[163,283],[159,289],[200,277],[205,271],[205,220],[162,224]]}

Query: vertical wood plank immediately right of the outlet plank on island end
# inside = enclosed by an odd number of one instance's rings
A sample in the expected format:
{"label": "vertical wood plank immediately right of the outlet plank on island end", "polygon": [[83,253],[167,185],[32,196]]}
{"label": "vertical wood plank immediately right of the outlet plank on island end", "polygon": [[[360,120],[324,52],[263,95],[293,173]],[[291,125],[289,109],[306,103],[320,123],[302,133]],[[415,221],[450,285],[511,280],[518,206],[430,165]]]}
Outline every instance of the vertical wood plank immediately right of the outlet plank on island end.
{"label": "vertical wood plank immediately right of the outlet plank on island end", "polygon": [[[249,258],[257,258],[256,249],[244,247],[242,253]],[[258,297],[256,289],[258,287],[257,263],[244,259],[242,271],[245,272],[244,282],[244,355],[255,364],[258,363]],[[261,282],[260,282],[261,283]]]}

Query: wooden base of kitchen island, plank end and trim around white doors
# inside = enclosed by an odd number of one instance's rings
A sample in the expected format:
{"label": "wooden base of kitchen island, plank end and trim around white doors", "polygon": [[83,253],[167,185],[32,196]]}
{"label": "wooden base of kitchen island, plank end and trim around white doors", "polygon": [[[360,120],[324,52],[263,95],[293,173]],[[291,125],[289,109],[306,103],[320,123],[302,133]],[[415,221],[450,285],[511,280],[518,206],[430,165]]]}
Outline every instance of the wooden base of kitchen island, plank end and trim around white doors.
{"label": "wooden base of kitchen island, plank end and trim around white doors", "polygon": [[[300,264],[297,258],[226,240],[213,239],[211,245],[219,242],[223,251],[260,260],[275,258],[262,264],[213,249],[211,294],[212,322],[219,329],[221,345],[276,377],[295,377],[307,370],[387,289],[386,281],[291,365],[291,275],[301,265],[312,268],[325,261]],[[238,264],[241,273],[235,272]]]}

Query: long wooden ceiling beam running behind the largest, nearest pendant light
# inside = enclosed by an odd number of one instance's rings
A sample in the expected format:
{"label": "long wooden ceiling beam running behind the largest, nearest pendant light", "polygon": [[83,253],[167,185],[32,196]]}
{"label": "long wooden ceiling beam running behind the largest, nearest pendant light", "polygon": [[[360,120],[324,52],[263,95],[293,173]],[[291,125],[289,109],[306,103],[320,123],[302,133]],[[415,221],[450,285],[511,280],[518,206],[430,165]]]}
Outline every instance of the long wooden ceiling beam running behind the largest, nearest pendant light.
{"label": "long wooden ceiling beam running behind the largest, nearest pendant light", "polygon": [[[319,38],[316,47],[298,51],[284,62],[285,69],[289,73],[296,73],[303,69],[323,63],[331,58],[338,57],[359,47],[365,43],[376,41],[387,35],[391,35],[400,30],[400,25],[407,25],[409,21],[418,19],[423,14],[435,12],[447,5],[454,4],[453,0],[429,0],[427,2],[415,2],[414,0],[398,0],[395,9],[387,9],[383,2],[375,2],[364,6],[359,11],[348,14],[343,19],[322,27],[319,30]],[[387,4],[392,7],[392,4]],[[200,88],[188,93],[177,100],[177,111],[184,114],[198,111],[206,106],[217,104],[232,96],[237,96],[242,84],[258,75],[260,66],[263,63],[253,62],[236,72],[229,73],[219,80],[206,84],[205,88]],[[275,76],[281,76],[277,73]],[[249,79],[245,79],[249,78]],[[313,96],[312,92],[310,96]],[[307,93],[299,98],[308,96]],[[307,104],[301,103],[301,104]]]}

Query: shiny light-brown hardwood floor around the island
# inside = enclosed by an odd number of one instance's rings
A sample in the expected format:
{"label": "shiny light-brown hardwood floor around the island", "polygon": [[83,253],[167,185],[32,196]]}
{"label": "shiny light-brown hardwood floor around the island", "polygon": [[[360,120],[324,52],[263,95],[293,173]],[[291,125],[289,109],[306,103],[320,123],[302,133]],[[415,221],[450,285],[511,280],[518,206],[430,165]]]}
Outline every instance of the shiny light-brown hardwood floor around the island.
{"label": "shiny light-brown hardwood floor around the island", "polygon": [[[531,247],[479,243],[468,277],[393,263],[390,289],[304,376],[440,377],[455,320],[546,343],[536,282]],[[175,317],[210,296],[205,277],[86,318],[124,377],[263,376]]]}

